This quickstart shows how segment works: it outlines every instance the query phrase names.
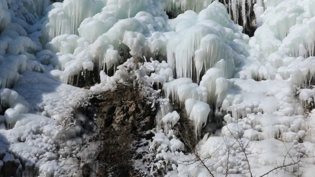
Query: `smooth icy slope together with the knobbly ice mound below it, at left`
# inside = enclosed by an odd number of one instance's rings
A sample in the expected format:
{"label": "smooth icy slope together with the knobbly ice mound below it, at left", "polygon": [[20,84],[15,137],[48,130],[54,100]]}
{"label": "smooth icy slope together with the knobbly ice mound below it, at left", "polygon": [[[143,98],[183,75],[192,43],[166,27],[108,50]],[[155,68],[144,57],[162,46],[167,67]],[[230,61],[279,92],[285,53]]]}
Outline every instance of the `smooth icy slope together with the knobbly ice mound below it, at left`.
{"label": "smooth icy slope together with the knobbly ice mound below it, at left", "polygon": [[[74,119],[74,111],[83,106],[88,97],[88,90],[65,85],[49,76],[47,70],[44,73],[24,72],[14,90],[1,89],[1,106],[9,108],[4,112],[2,123],[5,123],[5,128],[0,133],[10,144],[8,151],[21,157],[22,161],[17,164],[28,166],[23,172],[25,175],[61,176],[77,172],[78,162],[68,159],[72,153],[79,152],[83,142],[77,137],[82,128],[77,128],[81,123]],[[35,114],[27,113],[29,110]],[[77,121],[77,126],[63,127],[74,121]],[[81,121],[87,122],[87,119]],[[65,161],[71,162],[64,164]],[[55,170],[41,170],[44,168],[42,165],[51,162],[55,162],[50,167]],[[34,167],[39,171],[36,172]]]}

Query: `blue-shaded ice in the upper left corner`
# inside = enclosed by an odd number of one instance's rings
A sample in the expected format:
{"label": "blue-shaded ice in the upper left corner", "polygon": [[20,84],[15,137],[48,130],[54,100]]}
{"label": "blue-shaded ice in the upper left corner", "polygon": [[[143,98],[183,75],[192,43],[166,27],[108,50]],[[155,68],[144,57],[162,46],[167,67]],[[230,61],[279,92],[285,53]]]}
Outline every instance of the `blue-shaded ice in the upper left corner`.
{"label": "blue-shaded ice in the upper left corner", "polygon": [[35,22],[50,2],[1,0],[0,4],[0,87],[11,88],[25,70],[43,70],[35,58],[42,50]]}

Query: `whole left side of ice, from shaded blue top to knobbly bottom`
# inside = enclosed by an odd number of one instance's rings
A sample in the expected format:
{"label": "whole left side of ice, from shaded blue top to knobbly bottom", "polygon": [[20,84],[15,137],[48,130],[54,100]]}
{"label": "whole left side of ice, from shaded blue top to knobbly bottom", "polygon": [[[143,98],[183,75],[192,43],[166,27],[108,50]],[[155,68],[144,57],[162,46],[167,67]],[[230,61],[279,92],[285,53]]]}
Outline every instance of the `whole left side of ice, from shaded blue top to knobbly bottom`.
{"label": "whole left side of ice, from shaded blue top to knobbly bottom", "polygon": [[[50,73],[40,43],[49,0],[0,0],[0,170],[3,176],[76,176],[89,91]],[[77,96],[81,95],[81,96]],[[78,118],[78,119],[76,119]],[[72,125],[71,125],[72,124]],[[82,155],[84,156],[84,155]]]}

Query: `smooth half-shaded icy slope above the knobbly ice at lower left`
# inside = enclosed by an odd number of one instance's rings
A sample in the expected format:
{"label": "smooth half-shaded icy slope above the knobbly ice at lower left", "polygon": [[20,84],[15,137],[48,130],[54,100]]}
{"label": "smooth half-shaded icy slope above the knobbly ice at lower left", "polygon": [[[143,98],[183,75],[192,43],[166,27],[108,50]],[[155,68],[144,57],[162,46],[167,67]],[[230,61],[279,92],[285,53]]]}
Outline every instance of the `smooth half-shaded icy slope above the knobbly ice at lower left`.
{"label": "smooth half-shaded icy slope above the knobbly ice at lower left", "polygon": [[89,97],[88,90],[63,84],[50,76],[49,71],[23,73],[14,90],[28,100],[32,110],[41,111],[58,121],[63,121]]}

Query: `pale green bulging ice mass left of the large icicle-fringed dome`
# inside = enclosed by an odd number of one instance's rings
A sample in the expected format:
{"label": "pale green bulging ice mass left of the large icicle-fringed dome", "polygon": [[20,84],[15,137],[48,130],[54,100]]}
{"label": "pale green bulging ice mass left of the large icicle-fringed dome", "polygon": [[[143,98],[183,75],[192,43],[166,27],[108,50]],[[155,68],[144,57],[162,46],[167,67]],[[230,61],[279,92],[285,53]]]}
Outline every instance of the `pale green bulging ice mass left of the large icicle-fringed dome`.
{"label": "pale green bulging ice mass left of the large icicle-fringed dome", "polygon": [[[162,48],[165,46],[166,39],[163,40],[161,32],[167,30],[167,16],[158,0],[137,1],[137,3],[128,1],[129,5],[124,4],[124,1],[96,0],[89,3],[89,5],[94,4],[89,8],[91,13],[87,12],[82,17],[72,17],[73,20],[66,16],[67,13],[72,13],[71,9],[67,8],[67,4],[70,7],[71,3],[77,2],[65,0],[64,3],[55,3],[56,5],[49,7],[51,10],[46,16],[46,25],[43,29],[47,32],[73,26],[75,26],[73,29],[78,29],[70,32],[66,32],[67,29],[63,32],[48,32],[49,35],[52,34],[51,39],[55,38],[45,47],[60,56],[55,65],[58,66],[56,69],[64,70],[60,76],[64,82],[68,80],[71,82],[71,78],[82,70],[109,69],[113,66],[116,68],[117,64],[122,62],[121,55],[128,53],[127,49],[130,49],[131,56],[141,58],[165,56],[165,49]],[[83,6],[84,4],[80,8]],[[70,24],[62,25],[59,22]],[[54,28],[55,23],[61,24],[61,27]],[[150,49],[151,46],[154,48]]]}

